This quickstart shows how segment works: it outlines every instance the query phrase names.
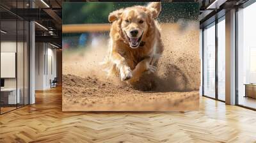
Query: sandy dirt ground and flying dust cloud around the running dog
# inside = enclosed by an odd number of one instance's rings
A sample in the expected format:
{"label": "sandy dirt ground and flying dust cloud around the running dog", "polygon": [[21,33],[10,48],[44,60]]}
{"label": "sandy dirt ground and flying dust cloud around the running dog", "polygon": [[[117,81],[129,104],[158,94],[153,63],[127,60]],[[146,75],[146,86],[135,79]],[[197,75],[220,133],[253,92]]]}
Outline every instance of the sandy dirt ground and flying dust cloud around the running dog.
{"label": "sandy dirt ground and flying dust cloud around the running dog", "polygon": [[[129,85],[102,71],[104,36],[86,50],[63,51],[63,111],[195,110],[200,87],[196,22],[161,26],[163,56],[155,75]],[[150,77],[150,78],[148,78]]]}

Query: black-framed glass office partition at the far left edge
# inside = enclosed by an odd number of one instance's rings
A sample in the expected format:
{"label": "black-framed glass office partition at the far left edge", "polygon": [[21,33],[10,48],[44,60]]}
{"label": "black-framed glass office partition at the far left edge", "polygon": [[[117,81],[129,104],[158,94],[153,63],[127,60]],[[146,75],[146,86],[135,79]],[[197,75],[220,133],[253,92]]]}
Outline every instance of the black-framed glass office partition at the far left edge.
{"label": "black-framed glass office partition at the far left edge", "polygon": [[28,1],[0,2],[0,114],[29,104],[29,22],[15,15],[26,7]]}

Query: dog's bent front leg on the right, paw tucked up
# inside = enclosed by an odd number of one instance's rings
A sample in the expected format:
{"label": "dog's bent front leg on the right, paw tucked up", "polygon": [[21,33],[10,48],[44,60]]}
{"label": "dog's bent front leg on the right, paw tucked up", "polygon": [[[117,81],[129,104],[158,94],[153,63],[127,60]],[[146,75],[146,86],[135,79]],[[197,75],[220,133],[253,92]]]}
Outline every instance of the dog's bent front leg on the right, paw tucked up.
{"label": "dog's bent front leg on the right, paw tucked up", "polygon": [[132,79],[130,82],[136,82],[140,79],[143,72],[156,72],[157,68],[156,66],[153,66],[150,64],[152,62],[152,57],[147,57],[143,59],[143,61],[140,61],[135,67],[135,69],[132,71]]}

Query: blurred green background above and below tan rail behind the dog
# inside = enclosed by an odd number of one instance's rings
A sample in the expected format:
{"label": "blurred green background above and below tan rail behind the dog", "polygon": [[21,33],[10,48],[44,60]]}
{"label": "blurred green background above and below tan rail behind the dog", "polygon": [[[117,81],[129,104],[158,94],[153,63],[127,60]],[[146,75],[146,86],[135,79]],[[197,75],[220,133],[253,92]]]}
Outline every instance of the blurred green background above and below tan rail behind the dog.
{"label": "blurred green background above and below tan rail behind the dog", "polygon": [[[148,2],[63,2],[63,24],[100,24],[109,23],[108,15],[114,10],[134,5],[147,5]],[[198,21],[198,3],[162,2],[158,17],[161,23],[179,22],[186,27],[190,20]],[[62,45],[65,50],[84,50],[106,43],[109,31],[95,33],[63,33]]]}

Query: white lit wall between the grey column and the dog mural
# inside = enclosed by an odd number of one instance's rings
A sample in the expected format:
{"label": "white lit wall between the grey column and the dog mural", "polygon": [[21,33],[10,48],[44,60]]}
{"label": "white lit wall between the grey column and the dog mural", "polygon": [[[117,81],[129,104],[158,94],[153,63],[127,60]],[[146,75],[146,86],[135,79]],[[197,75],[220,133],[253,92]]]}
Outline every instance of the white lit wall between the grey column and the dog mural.
{"label": "white lit wall between the grey column and the dog mural", "polygon": [[36,43],[36,90],[45,90],[51,88],[50,80],[53,80],[54,77],[56,77],[56,49],[53,48],[54,47],[52,47],[49,43]]}

